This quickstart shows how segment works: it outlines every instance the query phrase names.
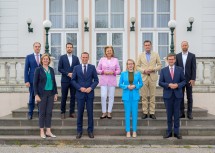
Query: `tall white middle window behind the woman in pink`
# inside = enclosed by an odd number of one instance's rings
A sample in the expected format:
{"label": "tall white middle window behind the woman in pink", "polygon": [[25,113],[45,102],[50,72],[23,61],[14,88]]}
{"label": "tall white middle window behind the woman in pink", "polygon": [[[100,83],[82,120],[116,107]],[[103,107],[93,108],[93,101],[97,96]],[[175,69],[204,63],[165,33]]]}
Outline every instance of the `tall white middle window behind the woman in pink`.
{"label": "tall white middle window behind the woman in pink", "polygon": [[95,0],[95,61],[104,57],[104,47],[112,45],[115,57],[123,70],[123,48],[125,42],[124,0]]}

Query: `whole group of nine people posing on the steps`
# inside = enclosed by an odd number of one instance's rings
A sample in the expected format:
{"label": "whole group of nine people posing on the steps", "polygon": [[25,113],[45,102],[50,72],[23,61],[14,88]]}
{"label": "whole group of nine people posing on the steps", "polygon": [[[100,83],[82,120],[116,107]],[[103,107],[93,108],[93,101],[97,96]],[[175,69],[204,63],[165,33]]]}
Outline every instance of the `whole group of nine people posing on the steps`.
{"label": "whole group of nine people posing on the steps", "polygon": [[[89,53],[82,52],[81,64],[79,58],[72,54],[73,44],[66,44],[66,54],[62,55],[58,63],[61,77],[61,119],[77,117],[77,135],[80,139],[83,133],[83,113],[86,105],[88,116],[88,136],[94,138],[93,101],[94,89],[99,84],[101,89],[102,114],[100,119],[112,119],[115,87],[117,75],[120,74],[118,86],[122,88],[122,101],[125,110],[126,137],[131,137],[130,116],[132,114],[132,137],[137,137],[138,102],[142,96],[142,119],[156,119],[155,91],[160,71],[159,85],[164,88],[163,98],[167,112],[167,133],[164,138],[172,137],[174,117],[174,137],[181,139],[179,134],[180,118],[185,118],[184,92],[187,93],[187,117],[192,116],[192,86],[196,78],[195,55],[188,52],[188,42],[181,43],[182,52],[168,54],[168,66],[161,69],[162,64],[158,53],[153,52],[152,43],[144,41],[144,51],[137,62],[128,59],[126,71],[121,72],[118,59],[114,56],[114,48],[106,46],[104,57],[98,66],[89,64]],[[39,127],[41,138],[56,137],[51,132],[51,118],[54,101],[57,101],[58,91],[53,68],[49,66],[51,59],[48,54],[40,54],[41,44],[33,44],[34,53],[26,57],[25,84],[29,87],[28,119],[33,118],[35,102],[38,104]],[[98,78],[98,75],[100,77]],[[141,90],[141,94],[139,91]],[[66,115],[66,101],[70,92],[69,115]],[[148,101],[149,96],[149,101]],[[108,108],[107,106],[108,97]],[[77,101],[77,113],[75,106]],[[46,131],[45,131],[46,129]]]}

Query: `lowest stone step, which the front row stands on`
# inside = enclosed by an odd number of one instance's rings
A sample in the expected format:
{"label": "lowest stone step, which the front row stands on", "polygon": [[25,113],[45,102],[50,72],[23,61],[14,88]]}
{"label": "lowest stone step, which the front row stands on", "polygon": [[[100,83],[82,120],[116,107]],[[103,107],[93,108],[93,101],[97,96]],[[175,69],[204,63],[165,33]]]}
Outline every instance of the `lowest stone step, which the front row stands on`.
{"label": "lowest stone step, which the front row stands on", "polygon": [[[1,145],[214,145],[214,136],[183,136],[183,139],[163,139],[162,136],[138,136],[126,138],[125,136],[95,136],[94,139],[83,135],[81,139],[75,136],[57,136],[57,138],[41,139],[39,136],[0,136]],[[89,147],[90,147],[89,146]],[[123,146],[122,146],[123,147]]]}

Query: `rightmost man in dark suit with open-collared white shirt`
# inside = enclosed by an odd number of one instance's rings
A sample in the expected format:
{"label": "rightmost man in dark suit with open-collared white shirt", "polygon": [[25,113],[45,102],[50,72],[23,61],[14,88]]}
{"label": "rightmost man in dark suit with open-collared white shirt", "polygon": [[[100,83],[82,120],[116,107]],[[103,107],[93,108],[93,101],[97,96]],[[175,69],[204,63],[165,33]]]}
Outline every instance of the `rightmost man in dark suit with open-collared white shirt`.
{"label": "rightmost man in dark suit with open-collared white shirt", "polygon": [[[192,87],[195,85],[196,80],[196,57],[195,54],[188,52],[189,44],[187,41],[181,43],[182,52],[176,55],[176,66],[180,66],[184,69],[184,75],[186,79],[186,86],[183,87],[183,95],[186,88],[187,93],[187,118],[193,119],[193,95]],[[180,117],[185,118],[184,113],[184,96],[181,103]]]}

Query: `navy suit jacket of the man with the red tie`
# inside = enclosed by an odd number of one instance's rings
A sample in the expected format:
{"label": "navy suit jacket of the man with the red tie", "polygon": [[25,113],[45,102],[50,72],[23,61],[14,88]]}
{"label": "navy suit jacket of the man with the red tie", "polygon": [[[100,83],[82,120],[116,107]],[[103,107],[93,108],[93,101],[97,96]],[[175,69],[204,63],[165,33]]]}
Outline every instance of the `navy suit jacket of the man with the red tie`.
{"label": "navy suit jacket of the man with the red tie", "polygon": [[[178,88],[171,89],[170,83],[177,83]],[[161,69],[159,86],[163,87],[163,98],[171,98],[172,94],[175,94],[176,98],[183,98],[182,87],[186,85],[184,77],[184,71],[181,67],[175,66],[174,77],[172,79],[169,66]]]}

